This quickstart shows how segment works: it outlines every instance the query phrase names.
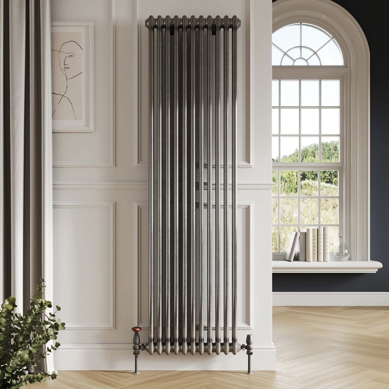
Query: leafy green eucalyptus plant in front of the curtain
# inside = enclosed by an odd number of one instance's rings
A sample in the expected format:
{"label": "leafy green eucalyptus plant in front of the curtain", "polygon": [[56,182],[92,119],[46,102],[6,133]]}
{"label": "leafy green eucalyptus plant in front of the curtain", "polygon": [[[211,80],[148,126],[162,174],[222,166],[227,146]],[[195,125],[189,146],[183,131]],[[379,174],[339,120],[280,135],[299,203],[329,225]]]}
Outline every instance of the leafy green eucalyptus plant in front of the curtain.
{"label": "leafy green eucalyptus plant in front of the curtain", "polygon": [[55,340],[58,331],[65,329],[65,323],[55,318],[57,311],[61,310],[58,305],[54,313],[45,314],[47,308],[52,308],[52,303],[43,298],[44,280],[40,282],[24,316],[14,312],[17,307],[15,297],[9,297],[1,304],[0,389],[17,389],[29,383],[46,381],[47,377],[56,378],[55,373],[29,373],[38,361],[60,344],[49,345],[43,353],[42,346]]}

